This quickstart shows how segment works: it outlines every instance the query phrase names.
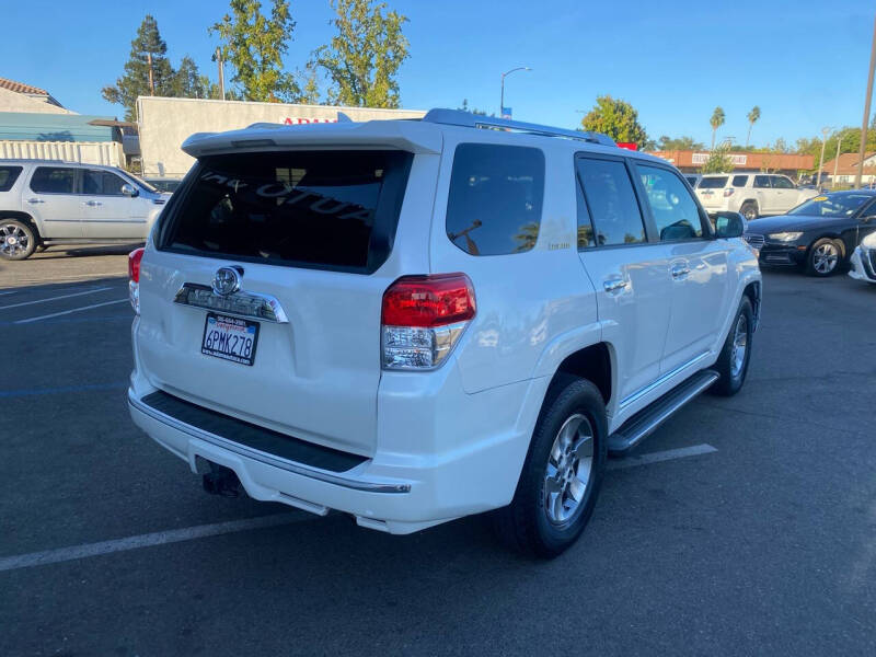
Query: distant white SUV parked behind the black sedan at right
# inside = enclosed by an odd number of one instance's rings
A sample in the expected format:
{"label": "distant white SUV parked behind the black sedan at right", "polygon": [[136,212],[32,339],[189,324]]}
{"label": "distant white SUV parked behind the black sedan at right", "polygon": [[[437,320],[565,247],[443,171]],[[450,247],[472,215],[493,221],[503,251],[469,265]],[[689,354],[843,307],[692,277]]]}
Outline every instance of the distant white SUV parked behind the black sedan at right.
{"label": "distant white SUV parked behind the black sedan at right", "polygon": [[748,221],[784,215],[817,189],[799,189],[786,175],[772,173],[707,173],[696,185],[696,196],[707,212],[740,212]]}

